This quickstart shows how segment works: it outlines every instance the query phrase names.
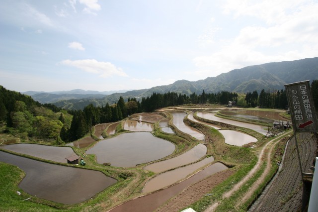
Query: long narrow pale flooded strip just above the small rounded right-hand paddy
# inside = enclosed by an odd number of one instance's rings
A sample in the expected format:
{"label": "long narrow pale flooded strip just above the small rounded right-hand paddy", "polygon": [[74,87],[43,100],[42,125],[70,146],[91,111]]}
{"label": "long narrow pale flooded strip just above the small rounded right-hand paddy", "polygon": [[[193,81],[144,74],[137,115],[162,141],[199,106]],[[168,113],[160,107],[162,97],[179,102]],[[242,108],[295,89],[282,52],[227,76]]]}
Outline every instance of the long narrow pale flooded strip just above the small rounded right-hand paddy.
{"label": "long narrow pale flooded strip just above the small rounded right-hand paddy", "polygon": [[[219,122],[223,122],[223,123],[227,123],[227,124],[232,124],[232,125],[236,125],[236,126],[240,126],[240,127],[249,128],[249,129],[255,130],[256,132],[259,132],[263,135],[267,134],[267,130],[263,129],[264,126],[235,121],[235,120],[230,120],[230,119],[226,119],[226,118],[220,118],[220,117],[215,116],[214,114],[215,113],[211,113],[211,112],[198,112],[197,116],[199,116],[201,118],[213,120],[213,121],[219,121]],[[266,127],[264,127],[264,128],[266,128]]]}

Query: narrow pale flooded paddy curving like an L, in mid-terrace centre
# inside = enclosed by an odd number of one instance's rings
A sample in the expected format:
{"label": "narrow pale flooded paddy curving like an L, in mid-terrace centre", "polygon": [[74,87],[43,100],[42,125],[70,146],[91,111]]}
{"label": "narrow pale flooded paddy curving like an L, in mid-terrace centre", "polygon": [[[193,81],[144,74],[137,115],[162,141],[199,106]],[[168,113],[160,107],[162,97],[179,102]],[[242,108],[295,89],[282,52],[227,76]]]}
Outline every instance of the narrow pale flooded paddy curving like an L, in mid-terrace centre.
{"label": "narrow pale flooded paddy curving like an L, in mid-terrace centre", "polygon": [[199,140],[204,139],[204,134],[202,134],[199,130],[184,124],[183,118],[187,115],[186,113],[172,112],[171,114],[173,116],[173,119],[172,119],[173,125],[176,126],[179,130],[191,135],[192,137],[195,137],[196,139],[199,139]]}

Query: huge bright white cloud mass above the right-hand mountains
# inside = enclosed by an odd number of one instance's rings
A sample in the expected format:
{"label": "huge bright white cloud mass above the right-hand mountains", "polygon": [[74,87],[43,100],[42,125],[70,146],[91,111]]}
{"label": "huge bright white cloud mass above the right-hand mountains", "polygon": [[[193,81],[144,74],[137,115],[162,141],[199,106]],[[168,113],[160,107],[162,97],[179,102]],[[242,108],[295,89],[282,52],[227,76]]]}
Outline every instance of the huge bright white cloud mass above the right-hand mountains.
{"label": "huge bright white cloud mass above the right-hand mountains", "polygon": [[233,38],[215,41],[219,48],[193,62],[217,76],[248,65],[317,57],[317,11],[318,3],[311,0],[228,0],[224,12],[234,16],[233,24],[244,16],[258,21],[243,26],[237,35],[233,32]]}

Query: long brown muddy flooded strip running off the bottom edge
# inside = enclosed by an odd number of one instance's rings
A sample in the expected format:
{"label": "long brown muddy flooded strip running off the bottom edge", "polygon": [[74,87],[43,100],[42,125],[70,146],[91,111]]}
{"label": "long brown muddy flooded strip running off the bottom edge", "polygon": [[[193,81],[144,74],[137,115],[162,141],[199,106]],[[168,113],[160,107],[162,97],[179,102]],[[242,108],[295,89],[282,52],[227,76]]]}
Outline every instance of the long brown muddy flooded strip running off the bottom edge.
{"label": "long brown muddy flooded strip running off the bottom edge", "polygon": [[[190,178],[182,181],[181,183],[175,184],[169,188],[160,190],[158,192],[146,195],[137,199],[133,199],[129,202],[126,202],[110,212],[151,212],[159,208],[163,203],[169,200],[171,197],[180,193],[184,188],[192,185],[210,175],[213,175],[217,172],[228,169],[223,163],[215,163],[204,170],[198,172],[197,174],[191,176]],[[213,178],[213,176],[211,176]],[[204,196],[204,194],[202,194]]]}

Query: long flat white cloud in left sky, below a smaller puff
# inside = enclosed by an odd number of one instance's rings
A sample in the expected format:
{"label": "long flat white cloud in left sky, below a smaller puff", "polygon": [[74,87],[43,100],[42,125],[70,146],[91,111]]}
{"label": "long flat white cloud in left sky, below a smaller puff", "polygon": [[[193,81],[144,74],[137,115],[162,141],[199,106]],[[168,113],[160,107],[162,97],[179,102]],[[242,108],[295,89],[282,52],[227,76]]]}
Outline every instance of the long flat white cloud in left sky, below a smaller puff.
{"label": "long flat white cloud in left sky, below a smaller puff", "polygon": [[113,75],[128,77],[121,68],[117,68],[110,62],[98,62],[94,59],[86,60],[63,60],[61,64],[73,66],[89,73],[99,74],[99,77],[107,78]]}

